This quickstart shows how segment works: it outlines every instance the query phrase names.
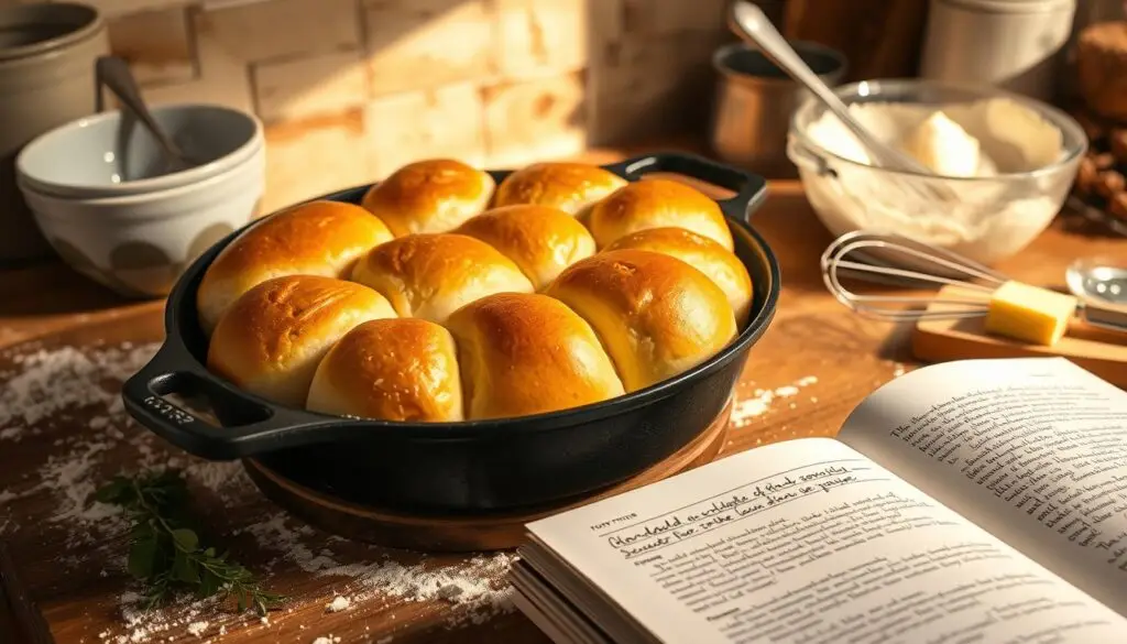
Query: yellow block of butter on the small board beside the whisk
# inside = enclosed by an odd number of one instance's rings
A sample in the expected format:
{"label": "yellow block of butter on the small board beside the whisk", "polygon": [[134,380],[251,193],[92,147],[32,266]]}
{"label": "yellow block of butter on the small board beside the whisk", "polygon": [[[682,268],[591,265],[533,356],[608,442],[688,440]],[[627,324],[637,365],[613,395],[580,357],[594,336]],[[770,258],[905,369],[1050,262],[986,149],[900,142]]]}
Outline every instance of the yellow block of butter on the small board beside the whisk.
{"label": "yellow block of butter on the small board beside the whisk", "polygon": [[986,332],[1053,346],[1068,328],[1076,305],[1072,295],[1006,282],[991,297]]}

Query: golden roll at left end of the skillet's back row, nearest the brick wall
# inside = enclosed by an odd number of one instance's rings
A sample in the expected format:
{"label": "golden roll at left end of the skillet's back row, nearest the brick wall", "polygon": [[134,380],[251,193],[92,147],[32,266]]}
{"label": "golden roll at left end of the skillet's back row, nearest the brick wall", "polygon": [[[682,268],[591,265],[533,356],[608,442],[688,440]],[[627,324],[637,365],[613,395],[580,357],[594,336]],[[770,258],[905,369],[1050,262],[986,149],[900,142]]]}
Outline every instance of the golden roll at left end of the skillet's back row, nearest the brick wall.
{"label": "golden roll at left end of the skillet's back row, nearest the brick wall", "polygon": [[408,164],[372,186],[362,205],[396,237],[446,232],[483,211],[494,185],[488,173],[461,161],[431,159]]}

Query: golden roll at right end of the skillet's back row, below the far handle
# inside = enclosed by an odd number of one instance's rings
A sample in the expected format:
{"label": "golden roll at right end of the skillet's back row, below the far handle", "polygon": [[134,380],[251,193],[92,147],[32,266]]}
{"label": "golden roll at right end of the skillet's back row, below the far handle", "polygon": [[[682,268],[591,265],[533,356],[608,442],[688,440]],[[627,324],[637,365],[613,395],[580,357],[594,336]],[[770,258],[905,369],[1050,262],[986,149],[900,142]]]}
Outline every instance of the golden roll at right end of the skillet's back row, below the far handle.
{"label": "golden roll at right end of the skillet's back row, below the far handle", "polygon": [[669,179],[646,179],[619,188],[591,209],[587,228],[600,248],[647,228],[685,228],[733,249],[720,206],[696,188]]}

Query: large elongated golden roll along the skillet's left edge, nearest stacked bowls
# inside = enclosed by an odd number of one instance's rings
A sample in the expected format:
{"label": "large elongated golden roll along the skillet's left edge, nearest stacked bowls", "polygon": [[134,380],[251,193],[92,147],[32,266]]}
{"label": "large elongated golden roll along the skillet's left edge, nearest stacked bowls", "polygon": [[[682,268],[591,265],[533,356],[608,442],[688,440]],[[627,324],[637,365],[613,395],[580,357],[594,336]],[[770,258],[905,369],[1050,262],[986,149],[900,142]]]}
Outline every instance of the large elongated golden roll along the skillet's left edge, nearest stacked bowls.
{"label": "large elongated golden roll along the skillet's left edge, nearest stacked bowls", "polygon": [[314,201],[283,210],[240,235],[219,254],[196,291],[199,324],[215,328],[223,311],[257,284],[282,275],[343,277],[391,231],[350,203]]}

